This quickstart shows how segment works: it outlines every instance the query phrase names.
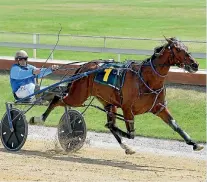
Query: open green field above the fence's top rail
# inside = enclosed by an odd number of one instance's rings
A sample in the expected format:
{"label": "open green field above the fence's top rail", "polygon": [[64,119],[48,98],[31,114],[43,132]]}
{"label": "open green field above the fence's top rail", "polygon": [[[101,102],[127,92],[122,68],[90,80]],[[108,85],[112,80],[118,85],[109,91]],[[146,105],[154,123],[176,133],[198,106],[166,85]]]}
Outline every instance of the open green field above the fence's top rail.
{"label": "open green field above the fence's top rail", "polygon": [[61,23],[71,34],[205,39],[204,0],[1,0],[1,9],[4,31],[54,33]]}

